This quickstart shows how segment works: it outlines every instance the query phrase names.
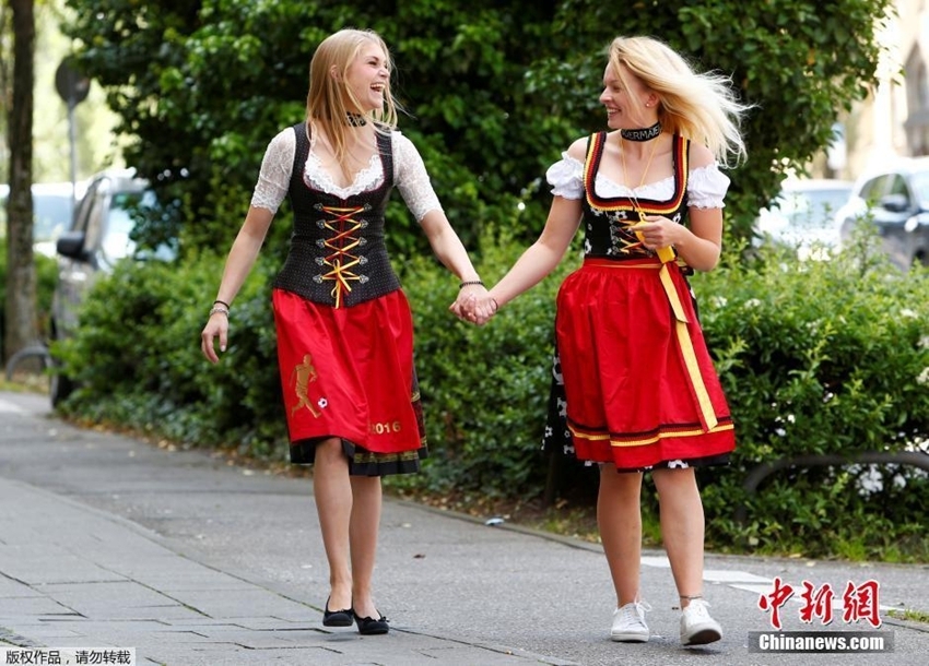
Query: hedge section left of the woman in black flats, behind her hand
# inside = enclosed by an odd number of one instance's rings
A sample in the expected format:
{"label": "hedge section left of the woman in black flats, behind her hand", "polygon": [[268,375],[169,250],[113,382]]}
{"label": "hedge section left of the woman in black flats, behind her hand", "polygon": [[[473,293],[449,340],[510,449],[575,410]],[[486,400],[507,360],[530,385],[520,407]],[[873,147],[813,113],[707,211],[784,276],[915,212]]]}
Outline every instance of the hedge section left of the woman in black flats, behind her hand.
{"label": "hedge section left of the woman in black flats, behind her hand", "polygon": [[200,352],[223,261],[124,262],[97,281],[77,335],[54,347],[79,386],[62,412],[185,444],[281,456],[275,444],[285,427],[264,263],[236,299],[222,361],[212,366]]}

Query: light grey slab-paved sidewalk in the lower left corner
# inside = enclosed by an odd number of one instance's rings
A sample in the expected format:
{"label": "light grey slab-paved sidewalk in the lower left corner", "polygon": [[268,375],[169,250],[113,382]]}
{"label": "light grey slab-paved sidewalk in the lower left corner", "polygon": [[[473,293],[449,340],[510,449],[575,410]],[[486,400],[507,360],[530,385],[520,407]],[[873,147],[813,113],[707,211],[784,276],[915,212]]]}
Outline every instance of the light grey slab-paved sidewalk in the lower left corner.
{"label": "light grey slab-paved sidewalk in the lower left corner", "polygon": [[0,506],[0,641],[14,645],[133,646],[139,663],[178,665],[568,663],[403,629],[386,640],[328,629],[318,609],[121,518],[3,478]]}

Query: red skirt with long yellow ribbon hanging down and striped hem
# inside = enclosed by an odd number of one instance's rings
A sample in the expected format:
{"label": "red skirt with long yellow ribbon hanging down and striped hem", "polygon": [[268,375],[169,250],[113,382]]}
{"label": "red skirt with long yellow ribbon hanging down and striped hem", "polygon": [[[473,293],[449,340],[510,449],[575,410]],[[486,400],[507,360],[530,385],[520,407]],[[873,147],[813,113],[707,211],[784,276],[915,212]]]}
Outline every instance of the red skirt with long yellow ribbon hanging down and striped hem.
{"label": "red skirt with long yellow ribbon hanging down and striped hem", "polygon": [[555,336],[579,460],[644,469],[726,462],[736,448],[679,265],[586,260],[558,292]]}

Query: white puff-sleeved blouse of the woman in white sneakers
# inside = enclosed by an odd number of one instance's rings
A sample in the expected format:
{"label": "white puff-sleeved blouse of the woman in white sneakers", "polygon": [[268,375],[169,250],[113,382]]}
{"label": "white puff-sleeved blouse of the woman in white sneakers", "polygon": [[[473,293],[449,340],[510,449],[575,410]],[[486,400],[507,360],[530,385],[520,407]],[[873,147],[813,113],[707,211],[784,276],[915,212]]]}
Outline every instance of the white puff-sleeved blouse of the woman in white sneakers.
{"label": "white puff-sleeved blouse of the woman in white sneakers", "polygon": [[[549,167],[545,178],[552,186],[552,194],[565,199],[584,198],[584,163],[567,153],[562,153],[562,158]],[[719,170],[716,163],[692,169],[687,176],[687,205],[698,209],[724,207],[726,204],[722,199],[729,182],[729,177]],[[674,177],[669,176],[631,190],[598,173],[593,188],[600,197],[607,199],[634,193],[637,199],[667,201],[674,195]]]}

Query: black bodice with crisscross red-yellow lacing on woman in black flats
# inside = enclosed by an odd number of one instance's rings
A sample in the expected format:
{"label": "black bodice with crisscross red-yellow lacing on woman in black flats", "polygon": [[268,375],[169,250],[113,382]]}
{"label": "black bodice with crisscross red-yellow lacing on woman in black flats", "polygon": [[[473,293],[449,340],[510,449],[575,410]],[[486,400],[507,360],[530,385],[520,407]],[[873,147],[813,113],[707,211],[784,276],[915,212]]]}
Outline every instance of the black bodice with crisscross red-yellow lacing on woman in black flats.
{"label": "black bodice with crisscross red-yellow lacing on woman in black flats", "polygon": [[287,195],[294,213],[291,249],[274,286],[334,308],[350,307],[400,288],[384,242],[384,211],[393,188],[390,135],[378,132],[384,182],[345,199],[310,188],[304,179],[309,139],[294,126],[296,148]]}

